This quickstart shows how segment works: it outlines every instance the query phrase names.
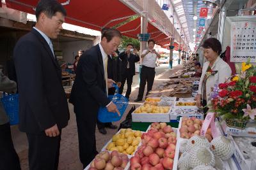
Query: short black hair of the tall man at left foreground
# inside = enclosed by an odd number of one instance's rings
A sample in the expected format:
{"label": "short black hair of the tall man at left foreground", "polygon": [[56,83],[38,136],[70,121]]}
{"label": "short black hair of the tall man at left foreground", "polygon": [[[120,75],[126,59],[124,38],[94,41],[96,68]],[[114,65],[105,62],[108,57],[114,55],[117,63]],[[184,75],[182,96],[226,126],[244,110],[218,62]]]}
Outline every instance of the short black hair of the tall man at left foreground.
{"label": "short black hair of the tall man at left foreground", "polygon": [[40,13],[44,12],[47,17],[52,18],[56,12],[62,13],[67,16],[65,8],[56,0],[41,0],[36,6],[36,20],[38,20]]}

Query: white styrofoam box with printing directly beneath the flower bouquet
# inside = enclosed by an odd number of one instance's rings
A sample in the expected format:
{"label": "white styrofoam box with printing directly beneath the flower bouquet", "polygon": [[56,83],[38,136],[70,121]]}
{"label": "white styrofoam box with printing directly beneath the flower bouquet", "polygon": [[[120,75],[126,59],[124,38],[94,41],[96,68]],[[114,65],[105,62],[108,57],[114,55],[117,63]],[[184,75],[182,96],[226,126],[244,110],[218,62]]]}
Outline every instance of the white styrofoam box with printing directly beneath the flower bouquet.
{"label": "white styrofoam box with printing directly beneath the flower bouquet", "polygon": [[225,135],[256,137],[256,122],[248,123],[245,129],[238,129],[236,127],[229,127],[225,120],[220,120],[220,125]]}

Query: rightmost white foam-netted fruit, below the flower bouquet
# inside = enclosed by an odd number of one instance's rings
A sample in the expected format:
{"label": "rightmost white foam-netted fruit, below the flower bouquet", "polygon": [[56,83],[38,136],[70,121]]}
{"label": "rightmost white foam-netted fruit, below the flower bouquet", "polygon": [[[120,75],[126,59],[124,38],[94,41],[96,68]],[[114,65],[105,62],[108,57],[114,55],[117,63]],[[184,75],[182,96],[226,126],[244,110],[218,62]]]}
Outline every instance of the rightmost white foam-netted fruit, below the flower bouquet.
{"label": "rightmost white foam-netted fruit, below the flower bouquet", "polygon": [[225,136],[218,136],[211,141],[211,150],[216,157],[227,160],[234,153],[234,145],[230,139]]}

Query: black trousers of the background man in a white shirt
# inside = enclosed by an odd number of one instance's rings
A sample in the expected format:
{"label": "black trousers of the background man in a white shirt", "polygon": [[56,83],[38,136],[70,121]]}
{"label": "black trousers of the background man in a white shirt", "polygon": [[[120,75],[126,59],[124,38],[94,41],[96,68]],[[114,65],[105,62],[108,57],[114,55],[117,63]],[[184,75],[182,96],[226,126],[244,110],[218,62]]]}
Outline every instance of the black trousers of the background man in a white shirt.
{"label": "black trousers of the background man in a white shirt", "polygon": [[147,94],[152,90],[155,74],[156,74],[156,71],[154,67],[142,66],[141,72],[140,72],[140,88],[139,88],[138,99],[143,98],[146,83],[147,83]]}

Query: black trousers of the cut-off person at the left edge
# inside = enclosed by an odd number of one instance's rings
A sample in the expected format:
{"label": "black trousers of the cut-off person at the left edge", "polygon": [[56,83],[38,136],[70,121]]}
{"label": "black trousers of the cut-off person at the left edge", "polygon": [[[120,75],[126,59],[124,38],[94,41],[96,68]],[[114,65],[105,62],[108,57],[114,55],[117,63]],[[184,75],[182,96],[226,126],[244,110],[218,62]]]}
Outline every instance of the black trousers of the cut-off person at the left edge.
{"label": "black trousers of the cut-off person at the left edge", "polygon": [[20,170],[20,160],[13,147],[10,123],[0,125],[0,170]]}

